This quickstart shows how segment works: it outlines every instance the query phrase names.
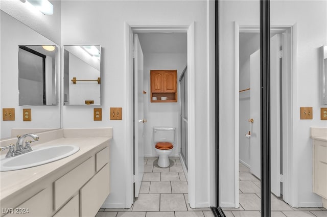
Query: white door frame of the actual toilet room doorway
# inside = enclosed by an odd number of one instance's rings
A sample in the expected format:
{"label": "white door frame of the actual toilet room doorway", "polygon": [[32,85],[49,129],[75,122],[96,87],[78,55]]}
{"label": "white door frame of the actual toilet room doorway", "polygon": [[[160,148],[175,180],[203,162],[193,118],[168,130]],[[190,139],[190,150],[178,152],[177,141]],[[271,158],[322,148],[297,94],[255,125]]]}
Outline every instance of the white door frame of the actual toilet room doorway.
{"label": "white door frame of the actual toilet room doorway", "polygon": [[[188,65],[188,118],[189,123],[195,123],[195,29],[194,22],[187,24],[177,24],[176,23],[168,23],[168,24],[158,24],[158,23],[145,23],[142,21],[131,21],[125,22],[125,90],[126,95],[126,107],[129,112],[126,113],[125,118],[125,126],[126,126],[126,143],[130,144],[124,150],[127,154],[125,155],[125,162],[127,164],[127,168],[125,170],[126,174],[126,208],[132,206],[134,202],[134,191],[133,191],[133,119],[132,119],[132,111],[133,111],[133,53],[132,53],[132,45],[133,45],[133,34],[134,33],[149,33],[149,32],[157,32],[157,33],[165,33],[165,32],[173,32],[173,33],[187,33],[187,65]],[[128,111],[127,110],[127,111]],[[196,159],[195,157],[195,125],[188,124],[188,143],[189,150],[188,155],[192,159]],[[189,162],[189,171],[188,171],[188,184],[189,184],[189,203],[191,207],[195,207],[196,203],[196,195],[195,195],[195,160]]]}

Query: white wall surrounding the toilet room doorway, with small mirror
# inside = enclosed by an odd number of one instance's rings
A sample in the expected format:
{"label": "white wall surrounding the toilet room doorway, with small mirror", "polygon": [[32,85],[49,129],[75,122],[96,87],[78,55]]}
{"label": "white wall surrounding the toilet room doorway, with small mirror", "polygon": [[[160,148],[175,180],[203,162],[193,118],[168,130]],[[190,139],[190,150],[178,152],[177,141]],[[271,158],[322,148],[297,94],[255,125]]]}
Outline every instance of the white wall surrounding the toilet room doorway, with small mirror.
{"label": "white wall surrounding the toilet room doorway, with small mirror", "polygon": [[[62,1],[62,44],[100,44],[102,46],[102,108],[101,122],[94,122],[93,107],[64,106],[63,127],[113,127],[111,150],[111,194],[105,206],[130,207],[127,192],[131,145],[126,138],[131,125],[131,93],[129,69],[125,69],[125,22],[143,25],[191,25],[195,23],[195,199],[197,207],[209,206],[208,147],[209,133],[207,1]],[[142,25],[142,24],[141,24]],[[128,39],[127,39],[128,40]],[[211,45],[211,46],[210,46]],[[128,85],[128,86],[127,86]],[[214,98],[211,99],[211,101]],[[109,107],[123,107],[123,120],[110,121]]]}

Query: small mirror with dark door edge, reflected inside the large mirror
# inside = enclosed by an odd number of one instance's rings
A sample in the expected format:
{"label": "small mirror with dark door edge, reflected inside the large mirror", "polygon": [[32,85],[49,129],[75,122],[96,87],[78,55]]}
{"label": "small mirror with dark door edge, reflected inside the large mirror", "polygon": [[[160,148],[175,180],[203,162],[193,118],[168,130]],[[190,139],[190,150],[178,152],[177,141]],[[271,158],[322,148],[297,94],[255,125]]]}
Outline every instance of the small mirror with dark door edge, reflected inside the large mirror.
{"label": "small mirror with dark door edge, reflected inside the large mirror", "polygon": [[18,45],[19,105],[56,105],[56,46]]}

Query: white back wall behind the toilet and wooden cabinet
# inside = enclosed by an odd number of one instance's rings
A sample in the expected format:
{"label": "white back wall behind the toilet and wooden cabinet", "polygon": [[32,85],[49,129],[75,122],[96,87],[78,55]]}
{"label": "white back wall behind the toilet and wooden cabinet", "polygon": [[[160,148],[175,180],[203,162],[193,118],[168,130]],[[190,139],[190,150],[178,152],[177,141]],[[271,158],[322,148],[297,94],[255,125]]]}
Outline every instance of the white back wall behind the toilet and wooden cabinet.
{"label": "white back wall behind the toilet and wooden cabinet", "polygon": [[[186,40],[186,37],[185,37]],[[180,127],[179,127],[179,102],[150,102],[150,70],[177,69],[177,80],[186,66],[186,53],[144,53],[144,107],[145,117],[148,120],[145,127],[145,156],[157,156],[153,142],[154,126],[176,127],[174,150],[170,156],[179,156],[180,151]],[[177,81],[177,88],[179,81]],[[178,90],[178,89],[177,89]],[[177,92],[177,95],[179,93]]]}

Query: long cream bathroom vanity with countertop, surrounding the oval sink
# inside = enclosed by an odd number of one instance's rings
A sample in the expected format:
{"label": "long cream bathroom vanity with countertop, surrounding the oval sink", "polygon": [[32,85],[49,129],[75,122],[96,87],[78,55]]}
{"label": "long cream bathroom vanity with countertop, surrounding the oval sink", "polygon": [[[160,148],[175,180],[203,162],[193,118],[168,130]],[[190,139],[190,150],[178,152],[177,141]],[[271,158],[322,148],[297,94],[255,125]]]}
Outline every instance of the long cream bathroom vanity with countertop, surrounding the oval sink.
{"label": "long cream bathroom vanity with countertop, surrounding the oval sink", "polygon": [[32,148],[69,144],[80,150],[49,164],[0,172],[1,216],[95,216],[110,193],[111,128],[38,135]]}

